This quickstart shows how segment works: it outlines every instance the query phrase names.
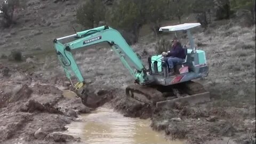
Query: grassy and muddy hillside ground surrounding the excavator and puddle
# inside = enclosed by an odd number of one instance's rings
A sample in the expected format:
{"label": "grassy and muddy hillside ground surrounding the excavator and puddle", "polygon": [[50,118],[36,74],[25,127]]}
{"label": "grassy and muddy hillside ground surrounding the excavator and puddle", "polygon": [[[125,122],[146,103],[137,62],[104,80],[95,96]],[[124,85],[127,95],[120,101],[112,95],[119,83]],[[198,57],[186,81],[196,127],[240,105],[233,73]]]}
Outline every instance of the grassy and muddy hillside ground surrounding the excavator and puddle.
{"label": "grassy and muddy hillside ground surrounding the excavator and puddle", "polygon": [[[61,131],[92,109],[80,99],[63,97],[70,83],[52,41],[74,34],[72,26],[77,31],[83,29],[75,21],[76,8],[82,2],[29,1],[27,9],[15,13],[17,25],[0,29],[0,143],[79,142]],[[148,55],[156,53],[156,41],[147,27],[142,30],[147,35],[141,35],[132,48],[147,63]],[[151,111],[126,99],[124,89],[133,78],[108,45],[73,54],[91,91],[108,90],[105,94],[114,97],[108,105],[125,116],[151,118],[152,129],[165,132],[170,139],[255,143],[255,25],[243,27],[239,18],[213,21],[207,30],[194,31],[194,38],[206,52],[210,67],[209,75],[198,81],[211,92],[211,102],[193,107]],[[12,51],[21,52],[22,61],[13,60]],[[181,121],[170,121],[177,117]]]}

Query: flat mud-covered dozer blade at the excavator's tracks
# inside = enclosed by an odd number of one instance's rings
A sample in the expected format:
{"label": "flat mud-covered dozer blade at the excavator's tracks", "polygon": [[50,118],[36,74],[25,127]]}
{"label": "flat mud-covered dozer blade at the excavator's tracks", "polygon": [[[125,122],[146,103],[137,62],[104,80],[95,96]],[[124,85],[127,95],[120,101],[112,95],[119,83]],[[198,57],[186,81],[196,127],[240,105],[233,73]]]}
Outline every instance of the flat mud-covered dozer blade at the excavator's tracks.
{"label": "flat mud-covered dozer blade at the excavator's tracks", "polygon": [[210,92],[198,93],[193,95],[187,95],[186,97],[179,97],[169,99],[165,101],[156,102],[156,107],[170,106],[172,107],[175,102],[188,102],[189,105],[195,105],[197,103],[204,103],[210,101]]}

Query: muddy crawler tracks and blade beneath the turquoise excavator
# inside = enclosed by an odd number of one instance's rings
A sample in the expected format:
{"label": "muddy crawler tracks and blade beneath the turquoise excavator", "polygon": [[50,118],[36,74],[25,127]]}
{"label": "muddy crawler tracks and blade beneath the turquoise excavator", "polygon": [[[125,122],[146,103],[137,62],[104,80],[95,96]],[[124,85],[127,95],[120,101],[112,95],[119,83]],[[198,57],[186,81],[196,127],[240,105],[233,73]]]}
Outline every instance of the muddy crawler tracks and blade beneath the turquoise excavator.
{"label": "muddy crawler tracks and blade beneath the turquoise excavator", "polygon": [[125,93],[127,97],[156,107],[170,106],[178,101],[187,101],[190,105],[210,101],[210,93],[193,81],[170,86],[134,84],[127,86]]}

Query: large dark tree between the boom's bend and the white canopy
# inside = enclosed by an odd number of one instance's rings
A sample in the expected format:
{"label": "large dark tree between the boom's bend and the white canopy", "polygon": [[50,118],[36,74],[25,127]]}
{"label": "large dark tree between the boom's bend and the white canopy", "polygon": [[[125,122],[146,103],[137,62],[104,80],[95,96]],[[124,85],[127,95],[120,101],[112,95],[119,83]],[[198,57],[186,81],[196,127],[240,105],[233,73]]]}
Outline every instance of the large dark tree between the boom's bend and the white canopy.
{"label": "large dark tree between the boom's bend and the white canopy", "polygon": [[165,20],[168,0],[121,0],[113,4],[113,9],[107,13],[107,21],[111,26],[130,31],[135,39],[146,23],[157,35],[160,23]]}

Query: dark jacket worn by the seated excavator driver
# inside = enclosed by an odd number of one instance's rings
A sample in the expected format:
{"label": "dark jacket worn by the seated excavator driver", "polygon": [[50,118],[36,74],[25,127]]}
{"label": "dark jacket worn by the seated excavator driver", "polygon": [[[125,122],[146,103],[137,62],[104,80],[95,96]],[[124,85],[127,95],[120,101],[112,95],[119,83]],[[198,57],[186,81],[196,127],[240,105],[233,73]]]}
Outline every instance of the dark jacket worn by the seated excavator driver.
{"label": "dark jacket worn by the seated excavator driver", "polygon": [[186,54],[181,44],[177,43],[177,45],[172,47],[172,49],[170,50],[170,53],[168,53],[166,57],[177,57],[180,59],[185,59]]}

